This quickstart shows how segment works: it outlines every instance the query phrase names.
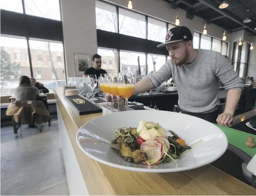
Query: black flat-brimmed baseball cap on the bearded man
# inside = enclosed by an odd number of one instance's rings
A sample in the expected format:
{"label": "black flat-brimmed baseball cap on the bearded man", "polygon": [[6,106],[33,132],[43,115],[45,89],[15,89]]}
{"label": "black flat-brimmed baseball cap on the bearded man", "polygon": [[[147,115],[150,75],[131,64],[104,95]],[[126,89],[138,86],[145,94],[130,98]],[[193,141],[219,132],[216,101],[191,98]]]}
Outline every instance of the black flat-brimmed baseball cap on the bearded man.
{"label": "black flat-brimmed baseball cap on the bearded man", "polygon": [[192,41],[193,36],[188,27],[185,26],[176,26],[168,30],[165,43],[159,44],[157,48],[164,47],[166,44],[178,42],[178,41]]}

